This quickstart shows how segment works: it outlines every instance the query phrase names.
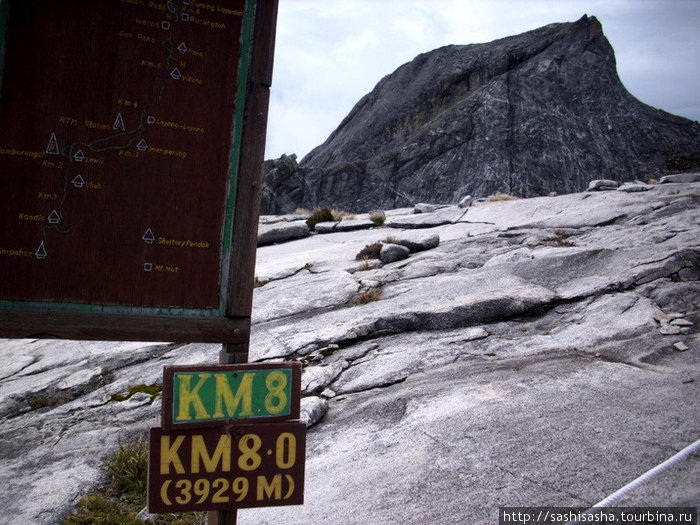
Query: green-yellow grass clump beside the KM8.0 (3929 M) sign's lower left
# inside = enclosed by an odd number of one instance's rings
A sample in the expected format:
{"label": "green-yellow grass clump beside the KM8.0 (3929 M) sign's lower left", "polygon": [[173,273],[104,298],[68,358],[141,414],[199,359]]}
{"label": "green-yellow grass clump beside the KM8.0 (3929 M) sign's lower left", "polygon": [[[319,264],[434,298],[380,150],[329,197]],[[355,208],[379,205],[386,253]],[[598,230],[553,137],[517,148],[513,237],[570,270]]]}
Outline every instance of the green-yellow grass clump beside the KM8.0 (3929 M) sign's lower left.
{"label": "green-yellow grass clump beside the KM8.0 (3929 M) sign's lower left", "polygon": [[[85,496],[78,511],[64,525],[143,525],[136,515],[146,506],[148,440],[142,436],[129,445],[120,444],[114,456],[103,461],[109,485]],[[202,525],[205,514],[159,514],[157,525]]]}

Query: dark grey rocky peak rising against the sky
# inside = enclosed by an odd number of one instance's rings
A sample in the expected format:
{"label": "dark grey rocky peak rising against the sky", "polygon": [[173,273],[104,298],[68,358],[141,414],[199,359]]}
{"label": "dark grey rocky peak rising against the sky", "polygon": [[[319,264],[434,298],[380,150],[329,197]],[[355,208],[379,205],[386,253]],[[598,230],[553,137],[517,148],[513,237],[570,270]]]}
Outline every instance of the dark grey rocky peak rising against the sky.
{"label": "dark grey rocky peak rising against the sky", "polygon": [[536,196],[700,159],[700,125],[635,99],[594,17],[419,55],[297,165],[266,163],[263,212],[351,211],[465,194]]}

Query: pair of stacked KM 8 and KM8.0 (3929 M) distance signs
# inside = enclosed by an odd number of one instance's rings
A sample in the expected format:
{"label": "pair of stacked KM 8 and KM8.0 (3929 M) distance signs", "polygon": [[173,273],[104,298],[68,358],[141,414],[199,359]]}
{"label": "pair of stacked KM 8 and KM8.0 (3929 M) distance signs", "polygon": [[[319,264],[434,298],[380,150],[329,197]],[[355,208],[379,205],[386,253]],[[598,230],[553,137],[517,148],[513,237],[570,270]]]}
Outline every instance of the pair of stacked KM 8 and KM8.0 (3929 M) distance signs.
{"label": "pair of stacked KM 8 and KM8.0 (3929 M) distance signs", "polygon": [[298,363],[166,367],[149,510],[209,510],[231,523],[237,508],[303,503],[300,391]]}

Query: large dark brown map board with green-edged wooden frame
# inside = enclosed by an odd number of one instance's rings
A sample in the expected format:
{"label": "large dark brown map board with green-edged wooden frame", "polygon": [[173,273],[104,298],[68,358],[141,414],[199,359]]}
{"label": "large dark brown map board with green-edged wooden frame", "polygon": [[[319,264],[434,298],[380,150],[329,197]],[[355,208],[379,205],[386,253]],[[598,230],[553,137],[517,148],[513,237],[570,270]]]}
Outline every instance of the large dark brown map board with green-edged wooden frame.
{"label": "large dark brown map board with green-edged wooden frame", "polygon": [[268,5],[2,0],[0,337],[246,339]]}

